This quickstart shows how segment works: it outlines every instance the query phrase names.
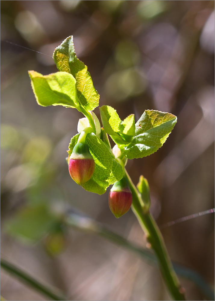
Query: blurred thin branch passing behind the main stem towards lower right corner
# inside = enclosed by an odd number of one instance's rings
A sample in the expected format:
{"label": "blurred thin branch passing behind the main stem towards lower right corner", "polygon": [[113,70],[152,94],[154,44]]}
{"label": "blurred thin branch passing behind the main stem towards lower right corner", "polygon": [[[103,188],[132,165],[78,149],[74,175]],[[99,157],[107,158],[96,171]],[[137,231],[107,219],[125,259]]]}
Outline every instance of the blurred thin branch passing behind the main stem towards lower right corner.
{"label": "blurred thin branch passing behind the main stem towards lower right corner", "polygon": [[[101,237],[107,238],[113,243],[117,243],[121,247],[136,252],[145,260],[147,260],[149,264],[158,266],[157,259],[151,251],[136,246],[135,244],[129,242],[129,240],[127,240],[123,236],[108,229],[101,223],[96,222],[94,219],[91,219],[86,216],[81,216],[79,214],[69,211],[67,212],[64,221],[67,223],[67,225],[70,225],[78,230],[82,230],[92,234],[98,234]],[[207,300],[214,300],[214,293],[212,289],[209,287],[207,282],[201,277],[201,275],[199,275],[192,269],[186,268],[176,263],[173,263],[173,268],[177,275],[194,282],[197,285],[197,287],[202,291]]]}

